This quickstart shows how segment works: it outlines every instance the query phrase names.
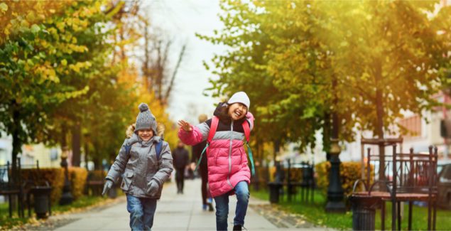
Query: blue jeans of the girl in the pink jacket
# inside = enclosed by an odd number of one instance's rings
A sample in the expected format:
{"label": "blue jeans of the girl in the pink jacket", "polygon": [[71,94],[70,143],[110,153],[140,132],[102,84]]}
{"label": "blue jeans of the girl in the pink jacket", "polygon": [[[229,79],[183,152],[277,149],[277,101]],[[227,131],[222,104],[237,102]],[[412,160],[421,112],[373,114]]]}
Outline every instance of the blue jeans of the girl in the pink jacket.
{"label": "blue jeans of the girl in the pink jacket", "polygon": [[[247,204],[249,203],[249,188],[246,181],[240,181],[234,188],[237,195],[237,209],[235,210],[234,225],[244,225]],[[214,198],[216,202],[216,230],[227,230],[227,216],[229,215],[229,193]]]}

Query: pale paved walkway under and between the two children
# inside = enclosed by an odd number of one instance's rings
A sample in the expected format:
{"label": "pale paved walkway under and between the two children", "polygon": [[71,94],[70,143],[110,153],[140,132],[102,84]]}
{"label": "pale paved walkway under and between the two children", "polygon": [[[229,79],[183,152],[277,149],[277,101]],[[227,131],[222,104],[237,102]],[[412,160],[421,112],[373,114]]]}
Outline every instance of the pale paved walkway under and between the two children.
{"label": "pale paved walkway under and between the two children", "polygon": [[[236,198],[230,198],[229,230],[233,227]],[[185,193],[176,194],[175,183],[165,184],[161,200],[157,203],[156,216],[152,230],[216,230],[214,212],[202,210],[200,196],[200,180],[185,181]],[[251,197],[244,227],[247,230],[293,230],[292,227],[273,225],[266,220],[261,212],[257,213],[252,207],[268,205],[266,201]],[[65,216],[71,222],[57,230],[130,230],[129,213],[126,202],[113,205],[104,210],[92,210],[87,213],[76,213]],[[313,225],[303,227],[304,230],[318,229]],[[299,229],[296,229],[299,230]],[[302,230],[302,229],[300,229]],[[319,230],[323,230],[319,228]]]}

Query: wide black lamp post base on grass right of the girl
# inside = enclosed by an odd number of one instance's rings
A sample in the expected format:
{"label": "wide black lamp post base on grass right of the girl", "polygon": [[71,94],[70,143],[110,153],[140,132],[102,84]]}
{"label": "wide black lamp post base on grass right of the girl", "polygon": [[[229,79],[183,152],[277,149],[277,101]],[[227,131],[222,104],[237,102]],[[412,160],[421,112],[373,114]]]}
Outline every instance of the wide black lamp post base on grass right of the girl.
{"label": "wide black lamp post base on grass right of the girl", "polygon": [[326,212],[329,213],[344,213],[346,207],[344,206],[343,198],[344,191],[342,181],[339,177],[339,153],[340,148],[338,139],[331,139],[330,145],[330,173],[329,186],[327,188],[327,205]]}

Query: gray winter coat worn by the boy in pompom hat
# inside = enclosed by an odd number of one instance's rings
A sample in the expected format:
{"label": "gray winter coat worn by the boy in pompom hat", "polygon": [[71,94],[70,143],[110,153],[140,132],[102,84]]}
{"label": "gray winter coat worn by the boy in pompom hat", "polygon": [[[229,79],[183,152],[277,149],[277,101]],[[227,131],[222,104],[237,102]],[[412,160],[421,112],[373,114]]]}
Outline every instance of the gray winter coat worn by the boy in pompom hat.
{"label": "gray winter coat worn by the boy in pompom hat", "polygon": [[[143,141],[136,134],[125,139],[116,156],[116,161],[107,174],[107,180],[117,183],[119,176],[124,173],[121,183],[124,193],[138,198],[159,199],[163,183],[168,180],[173,171],[173,157],[168,143],[163,141],[160,158],[157,161],[155,147],[158,141],[161,141],[160,136],[153,136],[149,141]],[[130,144],[130,153],[127,155],[125,146]],[[153,196],[147,193],[148,184],[151,181],[156,181],[159,186],[158,193]]]}

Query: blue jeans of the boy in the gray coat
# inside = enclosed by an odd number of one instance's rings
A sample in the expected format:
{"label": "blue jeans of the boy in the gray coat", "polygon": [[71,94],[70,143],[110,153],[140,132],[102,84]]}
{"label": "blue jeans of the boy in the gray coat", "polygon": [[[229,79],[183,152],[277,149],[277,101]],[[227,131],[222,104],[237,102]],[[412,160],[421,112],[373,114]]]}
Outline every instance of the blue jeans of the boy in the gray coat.
{"label": "blue jeans of the boy in the gray coat", "polygon": [[127,194],[127,210],[130,213],[131,230],[151,230],[156,199],[136,198]]}

